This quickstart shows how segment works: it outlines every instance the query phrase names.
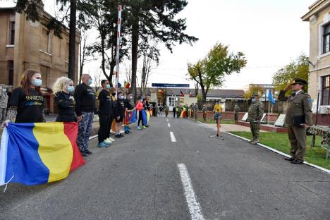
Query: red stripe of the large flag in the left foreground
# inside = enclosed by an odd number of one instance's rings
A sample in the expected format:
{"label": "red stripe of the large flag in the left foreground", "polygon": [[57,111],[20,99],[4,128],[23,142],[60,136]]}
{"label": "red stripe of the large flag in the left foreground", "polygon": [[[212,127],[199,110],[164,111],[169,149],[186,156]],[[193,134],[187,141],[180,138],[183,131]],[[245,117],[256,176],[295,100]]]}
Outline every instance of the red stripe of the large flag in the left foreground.
{"label": "red stripe of the large flag in the left foreground", "polygon": [[77,136],[78,136],[78,123],[75,122],[66,122],[64,124],[64,134],[70,140],[72,149],[73,149],[73,158],[71,163],[70,171],[77,169],[79,166],[84,165],[85,159],[81,156],[80,150],[77,145]]}

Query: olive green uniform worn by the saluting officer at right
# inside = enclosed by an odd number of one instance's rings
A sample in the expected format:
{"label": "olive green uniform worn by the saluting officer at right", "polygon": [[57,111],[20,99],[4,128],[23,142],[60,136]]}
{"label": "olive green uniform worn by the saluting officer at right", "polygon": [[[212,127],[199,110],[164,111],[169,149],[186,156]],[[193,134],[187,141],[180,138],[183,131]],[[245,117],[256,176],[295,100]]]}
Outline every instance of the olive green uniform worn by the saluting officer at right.
{"label": "olive green uniform worn by the saluting officer at right", "polygon": [[295,126],[295,116],[305,116],[305,123],[312,126],[312,99],[310,95],[300,91],[298,94],[286,96],[286,91],[281,90],[279,100],[288,102],[285,123],[288,125],[288,138],[291,143],[291,155],[300,161],[304,160],[306,151],[306,128]]}

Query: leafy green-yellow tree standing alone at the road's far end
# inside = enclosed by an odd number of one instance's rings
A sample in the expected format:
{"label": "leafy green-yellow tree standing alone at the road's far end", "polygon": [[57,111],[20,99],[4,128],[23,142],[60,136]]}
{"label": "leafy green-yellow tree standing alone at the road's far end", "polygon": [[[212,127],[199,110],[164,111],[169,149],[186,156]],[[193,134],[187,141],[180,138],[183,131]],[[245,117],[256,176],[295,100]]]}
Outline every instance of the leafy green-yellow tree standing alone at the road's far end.
{"label": "leafy green-yellow tree standing alone at the road's far end", "polygon": [[221,87],[226,75],[239,73],[246,63],[242,52],[229,53],[228,46],[217,43],[204,59],[195,64],[188,63],[188,76],[200,85],[202,102],[205,103],[212,87]]}

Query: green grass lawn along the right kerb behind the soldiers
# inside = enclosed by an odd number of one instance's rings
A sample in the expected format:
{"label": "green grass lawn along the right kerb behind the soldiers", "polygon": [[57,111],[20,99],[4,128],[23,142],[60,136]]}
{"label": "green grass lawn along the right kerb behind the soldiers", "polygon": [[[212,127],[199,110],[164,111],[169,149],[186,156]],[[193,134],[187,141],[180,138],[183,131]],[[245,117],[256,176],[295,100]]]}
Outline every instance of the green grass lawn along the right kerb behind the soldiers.
{"label": "green grass lawn along the right kerb behind the soldiers", "polygon": [[[243,138],[252,139],[250,132],[231,132]],[[288,140],[288,135],[283,133],[265,132],[260,133],[260,143],[267,145],[271,148],[277,149],[283,153],[290,154],[291,145]],[[330,158],[325,159],[326,150],[322,147],[310,147],[312,136],[307,136],[307,149],[305,154],[305,161],[322,166],[325,169],[330,169]],[[320,145],[321,137],[316,136],[315,145]]]}

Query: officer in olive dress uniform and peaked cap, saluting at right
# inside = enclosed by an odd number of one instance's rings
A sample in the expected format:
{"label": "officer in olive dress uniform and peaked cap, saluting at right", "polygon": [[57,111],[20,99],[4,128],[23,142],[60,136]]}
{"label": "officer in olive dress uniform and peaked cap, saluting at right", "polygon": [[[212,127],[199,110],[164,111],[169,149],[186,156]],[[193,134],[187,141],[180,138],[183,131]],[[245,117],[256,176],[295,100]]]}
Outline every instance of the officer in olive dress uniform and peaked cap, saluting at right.
{"label": "officer in olive dress uniform and peaked cap, saluting at right", "polygon": [[[312,126],[312,99],[302,89],[307,84],[306,80],[295,78],[295,81],[288,85],[285,90],[279,93],[279,100],[288,102],[285,123],[288,125],[288,138],[291,143],[291,158],[286,160],[292,164],[304,162],[306,150],[306,128]],[[291,89],[293,93],[286,96]]]}

